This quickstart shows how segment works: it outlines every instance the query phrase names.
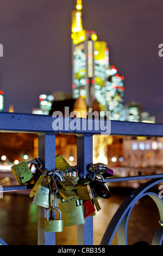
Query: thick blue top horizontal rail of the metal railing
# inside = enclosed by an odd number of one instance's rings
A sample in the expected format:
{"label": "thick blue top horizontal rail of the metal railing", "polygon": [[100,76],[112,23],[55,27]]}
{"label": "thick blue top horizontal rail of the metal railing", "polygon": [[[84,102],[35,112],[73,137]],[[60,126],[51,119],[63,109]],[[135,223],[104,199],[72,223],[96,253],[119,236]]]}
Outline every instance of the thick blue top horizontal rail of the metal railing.
{"label": "thick blue top horizontal rail of the metal railing", "polygon": [[[62,122],[66,121],[70,124],[73,118],[69,117],[57,117],[58,121],[62,119]],[[58,131],[53,130],[53,118],[52,115],[37,115],[37,114],[22,114],[22,113],[0,113],[0,131],[4,132],[30,132],[30,133],[68,133],[68,134],[83,134],[83,135],[99,135],[104,134],[104,130],[99,126],[99,130],[95,130],[95,119],[87,119],[86,127],[88,129],[60,129]],[[82,124],[82,118],[79,118]],[[92,129],[90,123],[92,122]],[[103,120],[103,124],[109,125],[110,120]],[[82,127],[82,125],[81,125]],[[162,137],[163,136],[163,124],[152,123],[137,123],[127,121],[114,121],[111,120],[111,135],[122,136],[150,136],[150,137]]]}

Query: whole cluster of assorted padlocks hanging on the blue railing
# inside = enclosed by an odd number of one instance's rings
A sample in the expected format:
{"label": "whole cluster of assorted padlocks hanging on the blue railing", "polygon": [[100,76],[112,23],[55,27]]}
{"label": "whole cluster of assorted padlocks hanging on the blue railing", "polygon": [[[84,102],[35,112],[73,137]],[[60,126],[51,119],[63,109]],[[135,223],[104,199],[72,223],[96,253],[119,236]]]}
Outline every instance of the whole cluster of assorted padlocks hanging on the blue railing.
{"label": "whole cluster of assorted padlocks hanging on the blue railing", "polygon": [[[47,209],[46,232],[60,232],[63,227],[83,224],[86,217],[102,209],[99,199],[111,196],[105,178],[112,176],[113,172],[103,163],[88,164],[83,179],[79,177],[77,166],[70,166],[61,155],[55,157],[55,169],[43,168],[36,158],[18,163],[11,170],[18,184],[33,185],[29,194],[34,198],[33,204]],[[49,218],[50,212],[56,210],[59,211],[59,220]]]}

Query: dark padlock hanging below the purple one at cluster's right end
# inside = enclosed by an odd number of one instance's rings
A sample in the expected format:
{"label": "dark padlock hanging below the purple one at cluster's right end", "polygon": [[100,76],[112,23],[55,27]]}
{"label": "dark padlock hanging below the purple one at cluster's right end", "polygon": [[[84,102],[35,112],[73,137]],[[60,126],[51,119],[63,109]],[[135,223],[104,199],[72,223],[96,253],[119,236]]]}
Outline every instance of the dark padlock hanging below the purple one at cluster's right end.
{"label": "dark padlock hanging below the purple one at cluster's right end", "polygon": [[91,179],[90,185],[94,188],[95,192],[98,194],[99,197],[108,199],[109,197],[112,196],[112,194],[110,193],[109,188],[103,176],[101,174],[98,174],[98,175],[101,176],[103,182],[96,180],[96,175],[95,175],[95,179],[93,179],[92,176],[90,175],[90,179]]}

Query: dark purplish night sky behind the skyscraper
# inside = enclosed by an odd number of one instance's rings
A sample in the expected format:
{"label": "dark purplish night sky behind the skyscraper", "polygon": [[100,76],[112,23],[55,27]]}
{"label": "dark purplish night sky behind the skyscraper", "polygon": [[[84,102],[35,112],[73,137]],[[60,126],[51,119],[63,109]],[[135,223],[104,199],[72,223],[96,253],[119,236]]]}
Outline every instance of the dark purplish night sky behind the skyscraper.
{"label": "dark purplish night sky behind the skyscraper", "polygon": [[[71,94],[71,11],[76,0],[0,0],[4,111],[31,113],[40,94]],[[163,123],[163,1],[83,0],[83,28],[109,47],[124,76],[124,104],[138,101]]]}

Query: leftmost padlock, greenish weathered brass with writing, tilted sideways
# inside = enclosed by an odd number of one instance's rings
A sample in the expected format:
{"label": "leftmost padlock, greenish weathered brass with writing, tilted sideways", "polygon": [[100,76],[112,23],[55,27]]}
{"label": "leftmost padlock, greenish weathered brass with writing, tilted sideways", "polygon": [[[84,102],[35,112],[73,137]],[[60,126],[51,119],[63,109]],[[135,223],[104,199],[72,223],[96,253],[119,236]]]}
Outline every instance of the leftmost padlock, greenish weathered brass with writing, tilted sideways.
{"label": "leftmost padlock, greenish weathered brass with writing, tilted sideways", "polygon": [[18,184],[22,185],[33,178],[33,173],[26,162],[21,162],[11,167]]}

